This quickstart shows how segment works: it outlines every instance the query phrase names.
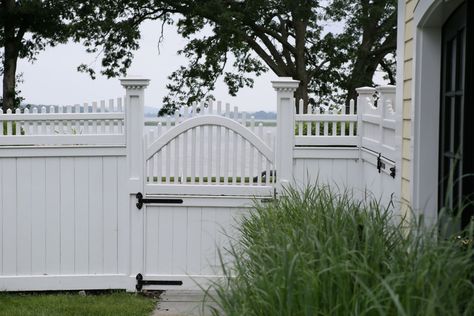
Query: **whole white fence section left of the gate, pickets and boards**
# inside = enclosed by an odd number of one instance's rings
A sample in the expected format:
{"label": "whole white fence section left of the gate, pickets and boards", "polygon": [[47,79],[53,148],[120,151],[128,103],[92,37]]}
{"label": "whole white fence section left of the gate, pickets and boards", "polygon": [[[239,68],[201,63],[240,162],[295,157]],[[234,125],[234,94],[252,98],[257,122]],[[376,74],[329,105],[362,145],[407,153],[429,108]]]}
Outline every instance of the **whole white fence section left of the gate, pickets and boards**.
{"label": "whole white fence section left of the gate, pickets and boards", "polygon": [[122,100],[0,113],[0,290],[123,288]]}

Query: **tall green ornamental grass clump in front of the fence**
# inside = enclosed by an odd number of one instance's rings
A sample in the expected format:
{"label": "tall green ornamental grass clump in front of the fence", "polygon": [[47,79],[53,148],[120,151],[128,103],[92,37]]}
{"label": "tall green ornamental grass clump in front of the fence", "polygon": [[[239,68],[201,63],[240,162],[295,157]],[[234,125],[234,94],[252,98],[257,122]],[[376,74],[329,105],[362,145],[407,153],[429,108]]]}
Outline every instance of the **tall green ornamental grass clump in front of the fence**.
{"label": "tall green ornamental grass clump in front of the fence", "polygon": [[288,189],[239,228],[210,291],[225,315],[474,315],[472,248],[374,201]]}

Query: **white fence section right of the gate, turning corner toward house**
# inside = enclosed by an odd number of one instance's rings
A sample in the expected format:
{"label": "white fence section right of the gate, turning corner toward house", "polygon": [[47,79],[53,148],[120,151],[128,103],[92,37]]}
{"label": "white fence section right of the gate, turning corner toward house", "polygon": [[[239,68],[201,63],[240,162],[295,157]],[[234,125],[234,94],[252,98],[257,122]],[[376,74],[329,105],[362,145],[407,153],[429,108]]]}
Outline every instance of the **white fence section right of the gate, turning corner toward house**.
{"label": "white fence section right of the gate, turning corner toward house", "polygon": [[388,205],[399,198],[399,114],[395,111],[395,87],[358,89],[358,114],[354,102],[349,113],[295,114],[294,181],[331,185],[350,190],[356,197],[367,194]]}

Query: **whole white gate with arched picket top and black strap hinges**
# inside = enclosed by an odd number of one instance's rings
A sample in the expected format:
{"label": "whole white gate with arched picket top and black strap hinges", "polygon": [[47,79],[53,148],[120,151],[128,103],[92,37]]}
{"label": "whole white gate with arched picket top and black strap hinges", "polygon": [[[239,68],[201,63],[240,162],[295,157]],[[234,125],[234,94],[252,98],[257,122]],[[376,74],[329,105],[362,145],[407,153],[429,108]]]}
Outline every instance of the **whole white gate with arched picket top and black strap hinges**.
{"label": "whole white gate with arched picket top and black strap hinges", "polygon": [[228,105],[222,113],[220,103],[196,112],[168,118],[145,140],[139,287],[192,288],[221,274],[219,251],[238,218],[274,195],[272,135],[263,140],[262,124],[239,120]]}

